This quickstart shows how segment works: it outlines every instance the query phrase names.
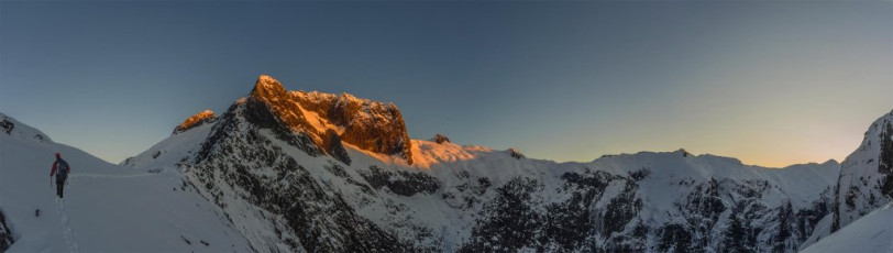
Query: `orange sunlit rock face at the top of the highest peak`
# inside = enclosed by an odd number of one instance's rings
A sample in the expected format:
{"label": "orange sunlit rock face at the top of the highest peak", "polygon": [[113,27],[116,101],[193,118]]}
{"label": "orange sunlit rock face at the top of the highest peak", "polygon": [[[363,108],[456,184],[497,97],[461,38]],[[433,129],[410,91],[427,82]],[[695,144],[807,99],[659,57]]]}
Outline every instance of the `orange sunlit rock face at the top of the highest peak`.
{"label": "orange sunlit rock face at the top of the highest peak", "polygon": [[335,157],[346,157],[341,152],[343,147],[331,146],[340,145],[332,140],[341,140],[373,153],[400,156],[412,164],[412,142],[394,103],[350,94],[286,91],[279,81],[266,75],[257,79],[250,100],[263,102],[293,132],[307,133],[317,146]]}

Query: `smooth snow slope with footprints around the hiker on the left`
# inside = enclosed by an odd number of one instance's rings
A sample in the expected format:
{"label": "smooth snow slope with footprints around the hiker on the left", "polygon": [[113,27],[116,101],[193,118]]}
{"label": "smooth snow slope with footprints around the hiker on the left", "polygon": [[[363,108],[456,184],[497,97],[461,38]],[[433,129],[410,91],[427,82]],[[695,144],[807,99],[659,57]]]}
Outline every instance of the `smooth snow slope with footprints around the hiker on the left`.
{"label": "smooth snow slope with footprints around the hiker on the left", "polygon": [[[9,252],[251,251],[177,170],[120,167],[2,113],[0,119],[0,209],[12,232]],[[73,169],[65,199],[56,198],[48,177],[56,152]]]}

